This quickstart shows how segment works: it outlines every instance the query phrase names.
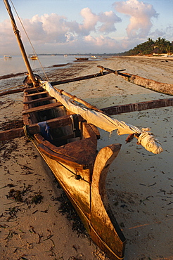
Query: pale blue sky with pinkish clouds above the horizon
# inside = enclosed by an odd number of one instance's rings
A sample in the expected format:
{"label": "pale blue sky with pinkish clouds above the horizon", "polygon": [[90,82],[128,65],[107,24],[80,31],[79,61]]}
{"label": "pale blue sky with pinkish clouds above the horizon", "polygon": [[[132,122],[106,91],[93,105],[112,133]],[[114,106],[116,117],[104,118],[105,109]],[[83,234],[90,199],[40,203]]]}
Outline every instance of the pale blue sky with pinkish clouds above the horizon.
{"label": "pale blue sky with pinkish clouds above the horizon", "polygon": [[[148,38],[173,41],[172,0],[13,0],[27,53],[120,53]],[[0,0],[0,55],[20,54]]]}

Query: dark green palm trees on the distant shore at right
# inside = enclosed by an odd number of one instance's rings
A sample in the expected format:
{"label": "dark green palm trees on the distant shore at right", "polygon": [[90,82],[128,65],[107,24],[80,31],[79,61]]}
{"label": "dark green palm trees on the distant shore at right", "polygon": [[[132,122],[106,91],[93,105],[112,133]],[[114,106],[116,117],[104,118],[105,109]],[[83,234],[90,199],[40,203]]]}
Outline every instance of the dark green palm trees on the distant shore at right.
{"label": "dark green palm trees on the distant shore at right", "polygon": [[153,41],[153,39],[148,38],[148,41],[139,44],[129,51],[121,53],[124,56],[134,56],[134,55],[171,55],[173,53],[173,42],[167,41],[164,38],[158,38]]}

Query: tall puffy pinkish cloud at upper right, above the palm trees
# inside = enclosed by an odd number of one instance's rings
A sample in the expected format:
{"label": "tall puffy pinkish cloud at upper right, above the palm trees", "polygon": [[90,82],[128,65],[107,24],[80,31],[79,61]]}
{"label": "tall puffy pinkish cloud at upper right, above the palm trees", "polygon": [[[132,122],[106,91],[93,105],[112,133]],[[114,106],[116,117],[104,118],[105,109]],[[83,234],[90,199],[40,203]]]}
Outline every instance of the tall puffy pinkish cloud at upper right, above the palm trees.
{"label": "tall puffy pinkish cloud at upper right, above the palm trees", "polygon": [[158,18],[158,13],[151,4],[138,0],[119,1],[113,4],[115,10],[130,16],[127,36],[145,38],[152,27],[151,18]]}

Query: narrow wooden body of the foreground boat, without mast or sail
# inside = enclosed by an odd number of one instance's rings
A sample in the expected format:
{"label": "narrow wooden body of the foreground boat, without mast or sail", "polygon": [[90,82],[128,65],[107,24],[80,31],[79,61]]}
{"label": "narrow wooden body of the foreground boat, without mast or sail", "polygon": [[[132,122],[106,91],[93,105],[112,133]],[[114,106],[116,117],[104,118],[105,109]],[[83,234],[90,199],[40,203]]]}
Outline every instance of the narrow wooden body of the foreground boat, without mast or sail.
{"label": "narrow wooden body of the foreground boat, without mast or sail", "polygon": [[105,193],[105,178],[121,145],[109,145],[97,155],[96,126],[67,110],[41,87],[25,89],[23,122],[37,126],[38,133],[31,140],[70,198],[91,239],[110,259],[123,259],[125,238]]}

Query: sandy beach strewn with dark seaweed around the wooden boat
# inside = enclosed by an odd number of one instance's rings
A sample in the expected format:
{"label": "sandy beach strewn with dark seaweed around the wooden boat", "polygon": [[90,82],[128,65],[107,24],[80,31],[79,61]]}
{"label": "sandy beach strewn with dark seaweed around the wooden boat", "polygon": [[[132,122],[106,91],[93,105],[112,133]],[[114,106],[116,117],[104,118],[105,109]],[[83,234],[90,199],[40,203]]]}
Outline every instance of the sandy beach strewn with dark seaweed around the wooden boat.
{"label": "sandy beach strewn with dark seaweed around the wooden boat", "polygon": [[[173,82],[173,58],[110,57],[55,68],[47,76],[53,82],[97,74],[97,65]],[[42,72],[40,76],[44,78]],[[22,77],[4,79],[4,89],[22,82]],[[115,74],[58,87],[97,108],[172,97]],[[23,119],[23,93],[2,96],[0,104],[1,130],[7,122]],[[116,131],[110,134],[99,129],[98,150],[111,143],[122,144],[106,187],[113,214],[127,239],[124,260],[173,260],[172,115],[173,108],[167,107],[113,116],[140,129],[149,127],[162,143],[160,155],[148,152],[135,140],[126,144],[127,136],[118,136]],[[109,259],[78,230],[77,216],[68,202],[62,209],[63,190],[26,137],[0,142],[0,166],[0,259]]]}

